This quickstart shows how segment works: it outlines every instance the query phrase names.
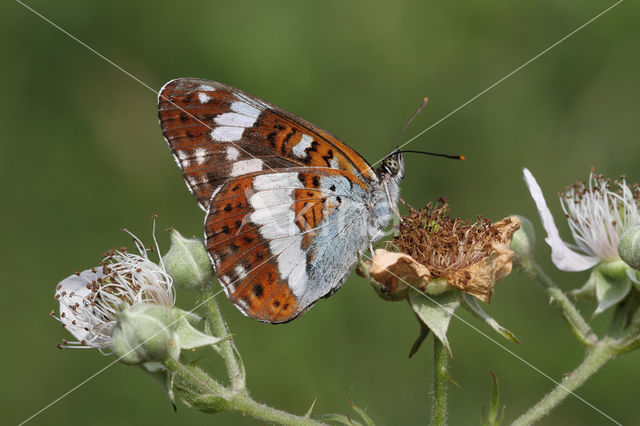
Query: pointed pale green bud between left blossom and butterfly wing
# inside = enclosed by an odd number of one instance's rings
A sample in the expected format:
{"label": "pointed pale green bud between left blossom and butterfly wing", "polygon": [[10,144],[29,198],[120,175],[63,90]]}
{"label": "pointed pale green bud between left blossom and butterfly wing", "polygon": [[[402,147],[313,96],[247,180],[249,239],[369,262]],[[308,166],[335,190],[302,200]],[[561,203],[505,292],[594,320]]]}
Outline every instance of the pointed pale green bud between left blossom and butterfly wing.
{"label": "pointed pale green bud between left blossom and butterfly wing", "polygon": [[174,229],[171,231],[171,248],[163,260],[176,287],[195,291],[211,282],[211,261],[204,244],[198,239],[184,238]]}

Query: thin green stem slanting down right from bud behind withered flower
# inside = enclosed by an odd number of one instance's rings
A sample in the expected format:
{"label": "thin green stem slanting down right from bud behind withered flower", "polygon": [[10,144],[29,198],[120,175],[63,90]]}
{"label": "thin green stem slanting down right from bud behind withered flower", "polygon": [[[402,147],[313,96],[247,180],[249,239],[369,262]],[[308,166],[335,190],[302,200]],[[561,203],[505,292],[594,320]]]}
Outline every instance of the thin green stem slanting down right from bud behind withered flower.
{"label": "thin green stem slanting down right from bud behind withered flower", "polygon": [[540,266],[531,259],[521,262],[521,266],[529,276],[542,286],[542,289],[549,295],[551,301],[558,305],[562,311],[562,316],[578,340],[587,348],[593,347],[598,343],[598,337],[593,330],[591,330],[591,327],[589,327],[589,324],[587,324],[582,315],[580,315],[578,308],[576,308],[553,280],[544,273]]}

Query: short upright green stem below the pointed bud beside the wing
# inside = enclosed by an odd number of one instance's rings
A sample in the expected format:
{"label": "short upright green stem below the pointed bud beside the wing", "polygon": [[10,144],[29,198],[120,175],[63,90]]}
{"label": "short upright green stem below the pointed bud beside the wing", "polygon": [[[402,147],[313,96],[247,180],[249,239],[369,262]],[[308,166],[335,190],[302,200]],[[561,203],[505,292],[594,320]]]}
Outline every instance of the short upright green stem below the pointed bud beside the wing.
{"label": "short upright green stem below the pointed bud beside the wing", "polygon": [[[218,303],[215,299],[215,294],[213,293],[210,286],[203,286],[202,298],[207,310],[207,320],[213,328],[214,333],[218,337],[229,335],[229,328],[227,327],[227,323],[222,318],[220,308],[218,307]],[[234,390],[244,389],[244,372],[242,371],[242,368],[238,363],[238,358],[236,357],[237,350],[235,348],[235,344],[232,340],[229,339],[219,343],[218,345],[222,358],[224,359],[225,366],[227,368],[227,373],[229,374],[231,387]]]}

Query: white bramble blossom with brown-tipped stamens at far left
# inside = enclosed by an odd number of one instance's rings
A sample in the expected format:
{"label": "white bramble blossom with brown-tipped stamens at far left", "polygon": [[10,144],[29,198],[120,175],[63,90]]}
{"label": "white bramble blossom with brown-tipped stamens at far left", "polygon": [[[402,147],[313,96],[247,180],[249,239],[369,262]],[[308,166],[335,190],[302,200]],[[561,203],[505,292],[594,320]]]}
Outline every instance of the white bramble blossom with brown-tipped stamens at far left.
{"label": "white bramble blossom with brown-tipped stamens at far left", "polygon": [[56,287],[57,319],[78,339],[65,341],[61,347],[93,347],[104,352],[111,344],[118,310],[139,303],[173,307],[173,280],[162,259],[162,266],[149,260],[140,240],[133,237],[140,255],[111,250],[100,266],[71,275]]}

